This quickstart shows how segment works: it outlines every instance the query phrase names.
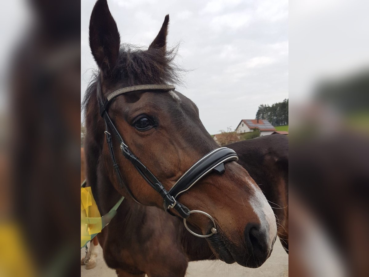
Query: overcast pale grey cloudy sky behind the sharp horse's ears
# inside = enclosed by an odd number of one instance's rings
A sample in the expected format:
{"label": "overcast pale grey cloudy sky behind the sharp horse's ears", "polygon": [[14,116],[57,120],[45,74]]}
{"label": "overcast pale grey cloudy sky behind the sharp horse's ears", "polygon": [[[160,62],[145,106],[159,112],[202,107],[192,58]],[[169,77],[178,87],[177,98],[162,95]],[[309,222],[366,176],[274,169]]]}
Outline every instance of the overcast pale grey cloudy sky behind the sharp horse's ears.
{"label": "overcast pale grey cloudy sky behind the sharp horse's ears", "polygon": [[[81,98],[96,65],[88,45],[95,0],[81,1]],[[149,45],[169,14],[169,45],[191,69],[178,87],[210,134],[288,98],[288,1],[108,0],[122,42]]]}

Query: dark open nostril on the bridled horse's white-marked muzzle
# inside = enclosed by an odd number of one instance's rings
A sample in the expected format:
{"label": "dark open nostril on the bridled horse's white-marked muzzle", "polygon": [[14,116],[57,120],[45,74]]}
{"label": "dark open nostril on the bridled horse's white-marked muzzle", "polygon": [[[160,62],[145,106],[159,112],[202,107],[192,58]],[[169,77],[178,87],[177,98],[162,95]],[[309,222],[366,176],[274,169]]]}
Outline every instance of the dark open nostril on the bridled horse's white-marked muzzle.
{"label": "dark open nostril on the bridled horse's white-marked muzzle", "polygon": [[258,223],[248,223],[245,228],[245,242],[249,255],[264,262],[269,254],[268,236]]}

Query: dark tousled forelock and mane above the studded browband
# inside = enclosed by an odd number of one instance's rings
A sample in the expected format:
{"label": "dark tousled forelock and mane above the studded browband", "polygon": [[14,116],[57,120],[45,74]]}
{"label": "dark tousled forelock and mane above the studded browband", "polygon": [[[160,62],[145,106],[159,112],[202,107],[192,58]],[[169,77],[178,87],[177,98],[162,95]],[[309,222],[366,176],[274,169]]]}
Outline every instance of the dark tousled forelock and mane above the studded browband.
{"label": "dark tousled forelock and mane above the studded browband", "polygon": [[[185,70],[174,62],[179,44],[168,48],[143,49],[131,44],[122,44],[117,63],[111,72],[110,82],[124,80],[127,86],[148,84],[183,84],[181,77]],[[86,115],[87,106],[93,96],[98,100],[101,95],[96,94],[98,71],[93,72],[92,79],[86,89],[82,102],[82,109]]]}

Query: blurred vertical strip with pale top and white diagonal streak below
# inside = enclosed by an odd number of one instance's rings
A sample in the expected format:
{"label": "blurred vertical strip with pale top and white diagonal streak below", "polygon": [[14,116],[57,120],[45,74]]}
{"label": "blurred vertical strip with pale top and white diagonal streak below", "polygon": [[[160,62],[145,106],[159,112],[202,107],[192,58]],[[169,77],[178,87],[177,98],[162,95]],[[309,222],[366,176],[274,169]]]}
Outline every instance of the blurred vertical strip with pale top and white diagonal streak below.
{"label": "blurred vertical strip with pale top and white diagonal streak below", "polygon": [[368,4],[289,3],[290,276],[369,276]]}

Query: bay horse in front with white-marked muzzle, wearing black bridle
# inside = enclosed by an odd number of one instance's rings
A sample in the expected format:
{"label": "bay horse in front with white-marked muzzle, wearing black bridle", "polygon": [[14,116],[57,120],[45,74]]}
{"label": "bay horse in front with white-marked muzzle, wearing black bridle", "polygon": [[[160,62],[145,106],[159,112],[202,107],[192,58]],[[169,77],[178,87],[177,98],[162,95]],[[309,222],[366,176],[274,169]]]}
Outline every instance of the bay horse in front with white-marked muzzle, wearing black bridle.
{"label": "bay horse in front with white-marked muzzle, wearing black bridle", "polygon": [[[85,148],[87,182],[102,214],[107,213],[121,195],[127,197],[122,207],[133,201],[115,175],[104,140],[104,120],[99,113],[101,102],[109,93],[127,86],[175,82],[177,75],[171,64],[173,56],[170,56],[173,53],[165,47],[168,22],[169,16],[166,16],[148,50],[120,49],[120,35],[107,2],[97,1],[92,11],[90,47],[100,71],[89,86],[84,102]],[[196,105],[174,90],[126,93],[110,105],[109,114],[132,153],[167,190],[204,154],[217,148],[199,119]],[[112,143],[115,150],[119,149],[116,137]],[[115,157],[123,181],[144,205],[135,205],[131,213],[118,213],[98,235],[108,266],[117,269],[118,276],[143,276],[145,273],[148,276],[184,276],[187,262],[198,259],[198,255],[186,257],[181,250],[182,243],[191,248],[196,245],[194,240],[203,239],[191,237],[189,244],[181,242],[184,228],[176,224],[178,219],[163,211],[163,216],[158,216],[158,208],[162,209],[160,195],[123,155],[116,152]],[[258,267],[270,256],[276,238],[273,211],[258,185],[239,164],[232,161],[225,164],[223,174],[208,174],[181,195],[180,201],[214,218],[217,233],[206,241],[219,259]],[[173,213],[179,216],[176,211]],[[141,221],[142,229],[125,228],[132,220]],[[152,220],[161,221],[161,225],[166,226],[165,233],[155,229],[147,232],[146,226]],[[202,234],[208,234],[213,227],[210,219],[199,214],[191,215],[187,222]],[[169,234],[177,234],[176,244],[166,239]],[[160,246],[160,252],[155,251],[158,250],[156,246]],[[141,255],[132,256],[131,253]],[[173,257],[171,263],[165,260],[168,254]]]}

